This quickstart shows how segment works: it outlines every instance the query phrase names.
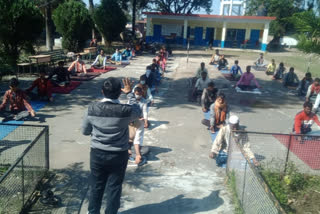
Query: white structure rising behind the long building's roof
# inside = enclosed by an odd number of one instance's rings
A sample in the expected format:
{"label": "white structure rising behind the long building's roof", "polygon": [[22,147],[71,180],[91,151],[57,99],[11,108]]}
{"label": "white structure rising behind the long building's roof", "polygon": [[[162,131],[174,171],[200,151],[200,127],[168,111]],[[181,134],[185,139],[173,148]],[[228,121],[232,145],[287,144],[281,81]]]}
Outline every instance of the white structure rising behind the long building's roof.
{"label": "white structure rising behind the long building's roof", "polygon": [[220,15],[244,16],[246,0],[220,0]]}

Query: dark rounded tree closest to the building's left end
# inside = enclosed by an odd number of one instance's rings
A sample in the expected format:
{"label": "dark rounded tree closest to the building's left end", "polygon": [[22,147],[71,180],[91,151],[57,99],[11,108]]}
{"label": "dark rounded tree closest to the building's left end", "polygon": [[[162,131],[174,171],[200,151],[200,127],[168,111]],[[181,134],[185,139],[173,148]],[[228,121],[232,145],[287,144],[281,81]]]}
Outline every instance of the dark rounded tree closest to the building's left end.
{"label": "dark rounded tree closest to the building's left end", "polygon": [[127,18],[116,0],[102,0],[95,9],[93,18],[108,46],[119,37],[127,23]]}

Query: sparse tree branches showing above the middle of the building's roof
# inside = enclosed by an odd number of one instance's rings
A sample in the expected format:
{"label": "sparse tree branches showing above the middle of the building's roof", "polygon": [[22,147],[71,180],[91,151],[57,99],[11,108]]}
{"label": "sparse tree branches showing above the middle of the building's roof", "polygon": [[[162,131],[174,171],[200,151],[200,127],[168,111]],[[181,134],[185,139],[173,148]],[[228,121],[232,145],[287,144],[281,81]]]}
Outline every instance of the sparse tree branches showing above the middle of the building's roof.
{"label": "sparse tree branches showing above the middle of the building's roof", "polygon": [[151,0],[149,4],[150,9],[165,13],[191,14],[203,8],[209,14],[212,0]]}

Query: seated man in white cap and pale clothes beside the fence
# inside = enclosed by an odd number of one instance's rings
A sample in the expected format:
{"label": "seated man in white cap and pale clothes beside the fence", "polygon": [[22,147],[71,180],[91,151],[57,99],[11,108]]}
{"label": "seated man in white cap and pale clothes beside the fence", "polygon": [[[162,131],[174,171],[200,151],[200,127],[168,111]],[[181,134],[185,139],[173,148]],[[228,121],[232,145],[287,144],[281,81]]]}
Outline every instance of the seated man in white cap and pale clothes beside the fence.
{"label": "seated man in white cap and pale clothes beside the fence", "polygon": [[223,126],[219,130],[219,133],[212,144],[209,157],[215,159],[221,152],[227,155],[228,147],[230,145],[230,135],[232,135],[235,142],[239,143],[242,146],[245,155],[250,160],[252,160],[255,166],[259,166],[259,162],[257,161],[257,159],[254,156],[254,153],[250,149],[248,134],[236,131],[244,131],[244,129],[241,128],[239,125],[239,117],[236,115],[232,115],[229,118],[229,124]]}

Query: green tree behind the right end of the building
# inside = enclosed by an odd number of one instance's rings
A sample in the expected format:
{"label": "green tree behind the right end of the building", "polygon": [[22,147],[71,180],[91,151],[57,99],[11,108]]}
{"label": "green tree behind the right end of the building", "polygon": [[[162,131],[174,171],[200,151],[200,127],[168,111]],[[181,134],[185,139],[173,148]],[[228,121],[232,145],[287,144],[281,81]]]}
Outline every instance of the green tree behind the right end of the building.
{"label": "green tree behind the right end of the building", "polygon": [[275,21],[271,22],[270,25],[270,33],[273,34],[274,42],[276,44],[279,43],[280,37],[284,36],[293,29],[293,25],[288,18],[290,18],[294,13],[302,11],[303,8],[303,0],[247,1],[248,15],[267,15],[275,16],[277,18]]}

